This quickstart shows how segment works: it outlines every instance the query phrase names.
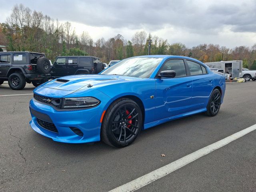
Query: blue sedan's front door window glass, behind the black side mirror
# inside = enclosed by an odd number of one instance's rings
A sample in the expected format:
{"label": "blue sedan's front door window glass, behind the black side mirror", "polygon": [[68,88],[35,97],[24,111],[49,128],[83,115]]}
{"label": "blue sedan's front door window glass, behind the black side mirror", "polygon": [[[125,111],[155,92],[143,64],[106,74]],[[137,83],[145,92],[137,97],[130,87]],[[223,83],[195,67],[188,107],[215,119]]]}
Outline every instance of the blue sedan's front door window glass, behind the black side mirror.
{"label": "blue sedan's front door window glass, behind the black side mirror", "polygon": [[[168,71],[172,70],[176,72],[175,77],[185,77],[186,74],[186,68],[184,61],[182,59],[171,59],[168,60],[164,66],[162,66],[161,71]],[[160,72],[159,72],[160,74]]]}

